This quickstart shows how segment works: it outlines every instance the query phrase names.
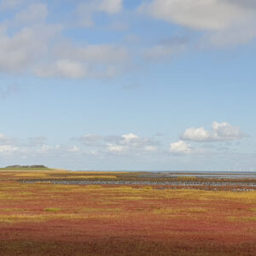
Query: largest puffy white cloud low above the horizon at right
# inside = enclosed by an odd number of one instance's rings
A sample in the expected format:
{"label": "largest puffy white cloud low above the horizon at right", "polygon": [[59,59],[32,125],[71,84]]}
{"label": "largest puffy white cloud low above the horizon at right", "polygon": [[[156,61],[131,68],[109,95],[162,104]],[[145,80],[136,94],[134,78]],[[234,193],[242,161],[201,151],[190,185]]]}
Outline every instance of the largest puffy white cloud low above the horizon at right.
{"label": "largest puffy white cloud low above the horizon at right", "polygon": [[212,123],[212,131],[207,131],[204,127],[188,128],[180,136],[181,140],[193,142],[221,142],[232,141],[247,137],[239,127],[232,126],[228,123]]}

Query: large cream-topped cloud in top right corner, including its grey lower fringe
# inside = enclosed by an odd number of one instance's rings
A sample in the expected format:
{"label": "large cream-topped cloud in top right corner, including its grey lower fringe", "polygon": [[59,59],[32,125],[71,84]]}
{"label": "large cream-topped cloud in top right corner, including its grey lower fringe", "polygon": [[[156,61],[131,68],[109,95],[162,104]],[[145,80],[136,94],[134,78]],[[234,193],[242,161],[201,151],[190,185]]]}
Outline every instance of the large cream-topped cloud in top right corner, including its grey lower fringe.
{"label": "large cream-topped cloud in top right corner, including its grey lower fringe", "polygon": [[153,0],[143,3],[139,11],[155,19],[207,32],[203,42],[223,46],[243,44],[256,36],[256,9],[252,8],[255,4],[253,1],[243,2]]}

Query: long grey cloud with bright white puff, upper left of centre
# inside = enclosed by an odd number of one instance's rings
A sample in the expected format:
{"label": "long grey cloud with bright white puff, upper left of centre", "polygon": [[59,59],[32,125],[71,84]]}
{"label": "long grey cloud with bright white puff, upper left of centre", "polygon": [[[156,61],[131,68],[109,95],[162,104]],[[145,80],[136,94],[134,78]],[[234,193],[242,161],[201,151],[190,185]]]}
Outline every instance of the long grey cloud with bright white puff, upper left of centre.
{"label": "long grey cloud with bright white puff, upper left of centre", "polygon": [[121,73],[128,53],[124,47],[114,45],[62,44],[54,49],[57,61],[35,68],[39,77],[63,77],[70,79],[112,77]]}

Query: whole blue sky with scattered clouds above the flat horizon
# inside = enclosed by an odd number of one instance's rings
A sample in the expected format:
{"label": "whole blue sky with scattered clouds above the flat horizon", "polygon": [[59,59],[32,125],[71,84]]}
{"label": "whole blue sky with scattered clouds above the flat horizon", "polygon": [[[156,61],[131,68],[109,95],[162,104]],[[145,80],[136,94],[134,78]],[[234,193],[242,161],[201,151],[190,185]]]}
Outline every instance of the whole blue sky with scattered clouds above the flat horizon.
{"label": "whole blue sky with scattered clouds above the flat horizon", "polygon": [[0,166],[256,172],[254,0],[0,1]]}

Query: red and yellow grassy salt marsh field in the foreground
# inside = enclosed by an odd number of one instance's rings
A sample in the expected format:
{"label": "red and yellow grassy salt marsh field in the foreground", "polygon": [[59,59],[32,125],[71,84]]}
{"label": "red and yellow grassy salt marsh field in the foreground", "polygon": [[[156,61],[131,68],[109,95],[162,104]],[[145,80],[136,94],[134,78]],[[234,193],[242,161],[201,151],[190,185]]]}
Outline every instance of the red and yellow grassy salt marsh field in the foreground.
{"label": "red and yellow grassy salt marsh field in the foreground", "polygon": [[256,191],[19,182],[134,176],[3,169],[0,255],[255,255]]}

